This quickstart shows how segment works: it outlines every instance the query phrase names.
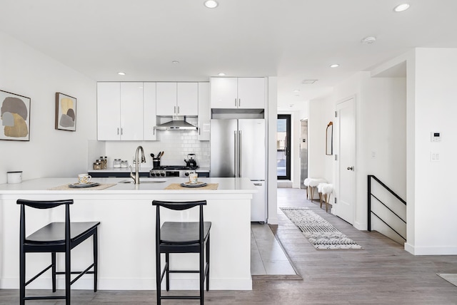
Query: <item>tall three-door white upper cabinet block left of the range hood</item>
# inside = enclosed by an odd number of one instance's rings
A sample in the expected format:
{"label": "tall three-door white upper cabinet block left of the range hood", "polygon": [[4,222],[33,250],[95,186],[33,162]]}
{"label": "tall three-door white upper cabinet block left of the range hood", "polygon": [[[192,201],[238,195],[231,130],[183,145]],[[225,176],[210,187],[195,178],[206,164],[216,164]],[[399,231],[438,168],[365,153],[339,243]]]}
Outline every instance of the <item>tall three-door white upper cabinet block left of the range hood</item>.
{"label": "tall three-door white upper cabinet block left of the range hood", "polygon": [[97,138],[156,140],[155,103],[156,83],[97,83]]}

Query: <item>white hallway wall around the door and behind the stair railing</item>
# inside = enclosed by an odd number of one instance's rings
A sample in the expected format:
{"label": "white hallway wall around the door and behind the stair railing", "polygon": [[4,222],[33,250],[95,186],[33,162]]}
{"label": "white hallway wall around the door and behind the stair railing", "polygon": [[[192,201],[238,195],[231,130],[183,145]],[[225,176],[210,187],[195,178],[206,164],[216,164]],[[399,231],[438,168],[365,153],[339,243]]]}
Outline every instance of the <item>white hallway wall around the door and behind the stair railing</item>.
{"label": "white hallway wall around the door and behind the stair railing", "polygon": [[[334,156],[325,155],[325,129],[334,121],[336,104],[356,100],[356,219],[367,227],[367,175],[376,175],[406,198],[406,81],[356,73],[326,98],[312,100],[308,118],[310,177],[335,180]],[[372,153],[376,157],[372,157]],[[333,199],[332,199],[333,200]],[[338,204],[333,207],[338,209]],[[337,212],[337,211],[336,211]],[[405,212],[403,212],[404,214]]]}

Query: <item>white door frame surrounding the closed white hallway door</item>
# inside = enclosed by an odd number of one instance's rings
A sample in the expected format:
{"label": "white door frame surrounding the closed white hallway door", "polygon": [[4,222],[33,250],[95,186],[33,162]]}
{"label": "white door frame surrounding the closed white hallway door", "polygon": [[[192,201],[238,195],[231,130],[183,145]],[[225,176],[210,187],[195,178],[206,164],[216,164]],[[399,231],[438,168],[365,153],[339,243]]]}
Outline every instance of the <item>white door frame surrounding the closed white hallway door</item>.
{"label": "white door frame surrounding the closed white hallway door", "polygon": [[[335,205],[333,205],[332,208],[332,213],[336,214],[338,216],[338,203],[341,202],[340,198],[340,170],[341,170],[341,163],[340,163],[340,145],[341,145],[341,140],[340,140],[340,122],[339,122],[339,115],[338,113],[338,105],[341,103],[345,103],[348,100],[353,100],[353,115],[354,115],[354,156],[353,156],[353,167],[354,167],[354,177],[353,177],[353,205],[352,205],[352,219],[353,223],[352,225],[356,224],[356,211],[357,211],[357,107],[356,107],[356,95],[349,96],[348,98],[343,98],[342,100],[338,100],[335,104],[335,116],[336,116],[336,124],[333,125],[333,135],[335,136],[335,144],[333,148],[336,149],[335,151],[335,168],[334,168],[334,177],[335,177]],[[339,217],[339,216],[338,216]],[[344,219],[343,219],[344,220]]]}

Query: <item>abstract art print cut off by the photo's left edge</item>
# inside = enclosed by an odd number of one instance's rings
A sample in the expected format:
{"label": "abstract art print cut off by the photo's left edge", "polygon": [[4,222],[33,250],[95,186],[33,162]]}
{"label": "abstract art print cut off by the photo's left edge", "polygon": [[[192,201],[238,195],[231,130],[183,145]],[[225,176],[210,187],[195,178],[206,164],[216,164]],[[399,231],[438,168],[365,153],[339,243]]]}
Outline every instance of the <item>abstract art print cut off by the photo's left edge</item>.
{"label": "abstract art print cut off by the photo's left edge", "polygon": [[30,140],[30,98],[0,90],[0,140]]}

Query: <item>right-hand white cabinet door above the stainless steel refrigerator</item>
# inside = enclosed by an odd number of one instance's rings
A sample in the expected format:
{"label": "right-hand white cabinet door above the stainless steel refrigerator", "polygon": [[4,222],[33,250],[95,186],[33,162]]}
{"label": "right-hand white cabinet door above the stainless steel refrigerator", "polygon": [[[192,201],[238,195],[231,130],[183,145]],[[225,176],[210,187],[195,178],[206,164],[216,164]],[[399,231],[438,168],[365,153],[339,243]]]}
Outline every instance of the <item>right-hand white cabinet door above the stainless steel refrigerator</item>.
{"label": "right-hand white cabinet door above the stainless steel refrigerator", "polygon": [[265,108],[264,78],[238,78],[238,108]]}

